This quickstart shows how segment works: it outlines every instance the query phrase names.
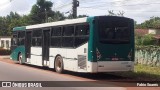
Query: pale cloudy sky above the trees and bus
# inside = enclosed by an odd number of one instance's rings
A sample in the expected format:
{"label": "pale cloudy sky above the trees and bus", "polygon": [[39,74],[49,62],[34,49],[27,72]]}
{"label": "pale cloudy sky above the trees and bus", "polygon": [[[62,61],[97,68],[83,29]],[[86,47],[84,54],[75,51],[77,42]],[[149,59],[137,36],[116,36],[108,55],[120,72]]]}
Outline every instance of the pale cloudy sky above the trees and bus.
{"label": "pale cloudy sky above the trees and bus", "polygon": [[[20,15],[29,14],[37,0],[1,0],[0,16],[6,16],[11,11]],[[65,15],[71,13],[72,0],[48,0],[53,2],[53,10]],[[114,13],[124,12],[125,17],[133,18],[137,23],[149,20],[150,17],[160,17],[160,0],[79,0],[78,15],[100,16],[108,15],[108,10]],[[69,12],[69,13],[67,13]]]}

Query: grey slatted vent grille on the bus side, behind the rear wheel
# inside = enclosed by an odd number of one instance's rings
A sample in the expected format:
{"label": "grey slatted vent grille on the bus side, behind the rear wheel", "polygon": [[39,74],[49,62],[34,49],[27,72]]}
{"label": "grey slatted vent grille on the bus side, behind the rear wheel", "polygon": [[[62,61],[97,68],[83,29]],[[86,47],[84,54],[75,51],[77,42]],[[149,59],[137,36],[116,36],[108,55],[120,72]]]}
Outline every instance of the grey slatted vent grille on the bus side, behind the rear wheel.
{"label": "grey slatted vent grille on the bus side, behind the rear wheel", "polygon": [[86,69],[86,56],[78,55],[78,67],[79,69]]}

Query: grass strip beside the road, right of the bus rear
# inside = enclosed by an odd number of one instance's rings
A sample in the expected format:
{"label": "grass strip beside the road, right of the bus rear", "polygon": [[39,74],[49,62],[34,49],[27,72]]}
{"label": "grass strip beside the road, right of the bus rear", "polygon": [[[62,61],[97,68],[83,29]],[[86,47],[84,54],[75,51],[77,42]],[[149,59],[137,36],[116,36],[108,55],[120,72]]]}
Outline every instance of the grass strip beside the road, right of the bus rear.
{"label": "grass strip beside the road, right of the bus rear", "polygon": [[121,72],[121,76],[140,81],[160,81],[160,67],[135,65],[134,72]]}

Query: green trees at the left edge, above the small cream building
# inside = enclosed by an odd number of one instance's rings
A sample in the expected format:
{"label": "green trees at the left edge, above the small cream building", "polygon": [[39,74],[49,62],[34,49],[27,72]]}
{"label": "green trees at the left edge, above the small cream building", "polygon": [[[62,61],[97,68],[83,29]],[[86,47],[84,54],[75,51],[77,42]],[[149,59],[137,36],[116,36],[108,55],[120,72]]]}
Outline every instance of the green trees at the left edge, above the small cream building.
{"label": "green trees at the left edge, above the small cream building", "polygon": [[26,26],[30,23],[29,16],[20,16],[16,12],[10,12],[6,17],[0,17],[0,36],[10,36],[14,27]]}

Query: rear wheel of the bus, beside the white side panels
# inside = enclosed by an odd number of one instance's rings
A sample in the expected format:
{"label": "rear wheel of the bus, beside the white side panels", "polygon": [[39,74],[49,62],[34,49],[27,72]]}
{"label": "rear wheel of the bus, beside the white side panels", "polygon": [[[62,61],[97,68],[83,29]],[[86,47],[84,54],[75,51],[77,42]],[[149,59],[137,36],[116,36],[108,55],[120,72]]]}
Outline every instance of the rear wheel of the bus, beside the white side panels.
{"label": "rear wheel of the bus, beside the white side panels", "polygon": [[55,59],[55,66],[54,66],[56,72],[58,73],[63,73],[64,69],[63,69],[63,59],[61,56],[57,56]]}

